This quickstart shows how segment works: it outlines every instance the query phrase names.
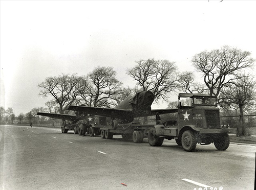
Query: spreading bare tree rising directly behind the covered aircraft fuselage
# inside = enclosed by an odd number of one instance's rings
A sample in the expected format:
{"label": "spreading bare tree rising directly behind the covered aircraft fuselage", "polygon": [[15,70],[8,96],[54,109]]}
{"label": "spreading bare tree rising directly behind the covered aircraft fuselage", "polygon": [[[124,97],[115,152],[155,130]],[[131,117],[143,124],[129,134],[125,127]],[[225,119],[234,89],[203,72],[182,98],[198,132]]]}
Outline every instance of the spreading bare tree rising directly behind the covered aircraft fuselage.
{"label": "spreading bare tree rising directly behind the covered aircraft fuselage", "polygon": [[136,61],[137,65],[127,69],[141,90],[152,91],[158,101],[167,101],[167,94],[178,87],[177,66],[168,60],[147,59]]}

